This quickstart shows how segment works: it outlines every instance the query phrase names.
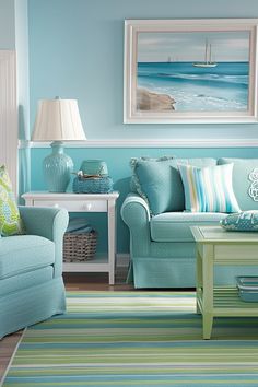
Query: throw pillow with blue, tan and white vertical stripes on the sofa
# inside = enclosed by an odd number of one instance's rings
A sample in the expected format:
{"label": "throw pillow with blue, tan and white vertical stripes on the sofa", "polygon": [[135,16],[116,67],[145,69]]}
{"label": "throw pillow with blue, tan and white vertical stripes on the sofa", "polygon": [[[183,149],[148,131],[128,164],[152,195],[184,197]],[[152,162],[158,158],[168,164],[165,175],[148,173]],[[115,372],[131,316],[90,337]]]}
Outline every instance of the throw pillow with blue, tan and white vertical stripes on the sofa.
{"label": "throw pillow with blue, tan and white vertical stripes on the sofa", "polygon": [[198,168],[178,165],[184,190],[185,207],[191,212],[239,212],[233,185],[233,163]]}

